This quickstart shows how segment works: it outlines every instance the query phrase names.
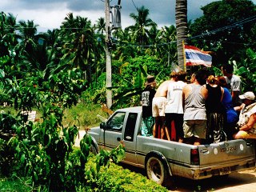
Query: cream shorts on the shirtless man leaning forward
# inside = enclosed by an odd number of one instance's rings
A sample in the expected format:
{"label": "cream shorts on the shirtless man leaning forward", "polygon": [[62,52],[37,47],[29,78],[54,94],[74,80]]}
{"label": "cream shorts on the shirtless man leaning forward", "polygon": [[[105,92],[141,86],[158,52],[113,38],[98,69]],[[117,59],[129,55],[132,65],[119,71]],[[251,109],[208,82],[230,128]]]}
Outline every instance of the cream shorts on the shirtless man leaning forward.
{"label": "cream shorts on the shirtless man leaning forward", "polygon": [[152,115],[153,117],[165,117],[167,98],[157,97],[152,101]]}

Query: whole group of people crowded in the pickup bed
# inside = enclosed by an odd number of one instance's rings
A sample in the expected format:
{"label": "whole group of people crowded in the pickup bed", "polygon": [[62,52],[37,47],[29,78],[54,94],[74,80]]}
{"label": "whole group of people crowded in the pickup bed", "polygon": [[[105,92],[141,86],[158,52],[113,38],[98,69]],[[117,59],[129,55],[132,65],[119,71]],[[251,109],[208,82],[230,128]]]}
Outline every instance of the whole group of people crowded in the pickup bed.
{"label": "whole group of people crowded in the pickup bed", "polygon": [[155,90],[149,75],[142,91],[142,135],[194,145],[234,138],[256,138],[253,92],[242,94],[233,66],[223,76],[198,70],[186,82],[186,72],[171,72]]}

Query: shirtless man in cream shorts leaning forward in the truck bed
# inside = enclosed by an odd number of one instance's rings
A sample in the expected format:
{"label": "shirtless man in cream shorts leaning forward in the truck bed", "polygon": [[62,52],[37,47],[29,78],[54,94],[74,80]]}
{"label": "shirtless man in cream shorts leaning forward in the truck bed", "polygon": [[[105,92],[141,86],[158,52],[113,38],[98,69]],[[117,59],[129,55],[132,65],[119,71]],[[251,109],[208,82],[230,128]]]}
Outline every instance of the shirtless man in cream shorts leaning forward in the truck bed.
{"label": "shirtless man in cream shorts leaning forward in the truck bed", "polygon": [[[176,76],[175,72],[170,73],[170,78]],[[170,140],[169,132],[166,130],[165,126],[165,109],[167,104],[167,91],[168,85],[172,82],[172,80],[167,80],[162,82],[158,87],[157,92],[154,94],[153,102],[152,102],[152,114],[155,118],[155,124],[153,128],[153,136],[154,138],[166,138]],[[159,128],[160,127],[160,131]],[[160,133],[159,133],[160,132]],[[160,134],[160,135],[159,135]]]}

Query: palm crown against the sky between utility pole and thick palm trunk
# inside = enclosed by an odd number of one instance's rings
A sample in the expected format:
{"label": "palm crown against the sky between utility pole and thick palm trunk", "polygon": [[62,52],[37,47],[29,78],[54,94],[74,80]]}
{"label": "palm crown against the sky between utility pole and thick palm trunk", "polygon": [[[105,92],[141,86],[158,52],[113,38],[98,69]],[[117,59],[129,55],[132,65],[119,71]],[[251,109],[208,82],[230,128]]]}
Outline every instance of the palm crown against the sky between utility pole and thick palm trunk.
{"label": "palm crown against the sky between utility pole and thick palm trunk", "polygon": [[134,26],[129,26],[133,34],[133,41],[137,42],[140,46],[144,46],[150,42],[150,28],[157,26],[152,19],[149,18],[150,10],[144,6],[137,8],[138,14],[131,13],[130,18],[135,21]]}

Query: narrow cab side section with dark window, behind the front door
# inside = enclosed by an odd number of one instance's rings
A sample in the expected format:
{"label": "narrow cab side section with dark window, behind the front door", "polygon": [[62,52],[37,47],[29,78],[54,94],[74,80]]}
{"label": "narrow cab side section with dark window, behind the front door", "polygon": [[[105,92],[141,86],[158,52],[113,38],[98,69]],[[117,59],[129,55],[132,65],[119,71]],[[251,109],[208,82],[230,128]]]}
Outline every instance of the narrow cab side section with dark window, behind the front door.
{"label": "narrow cab side section with dark window, behind the front door", "polygon": [[126,158],[127,162],[134,162],[137,164],[137,158],[135,156],[136,151],[136,139],[134,136],[134,130],[137,124],[137,113],[129,113],[126,121],[126,127],[124,131],[124,144],[126,147]]}

